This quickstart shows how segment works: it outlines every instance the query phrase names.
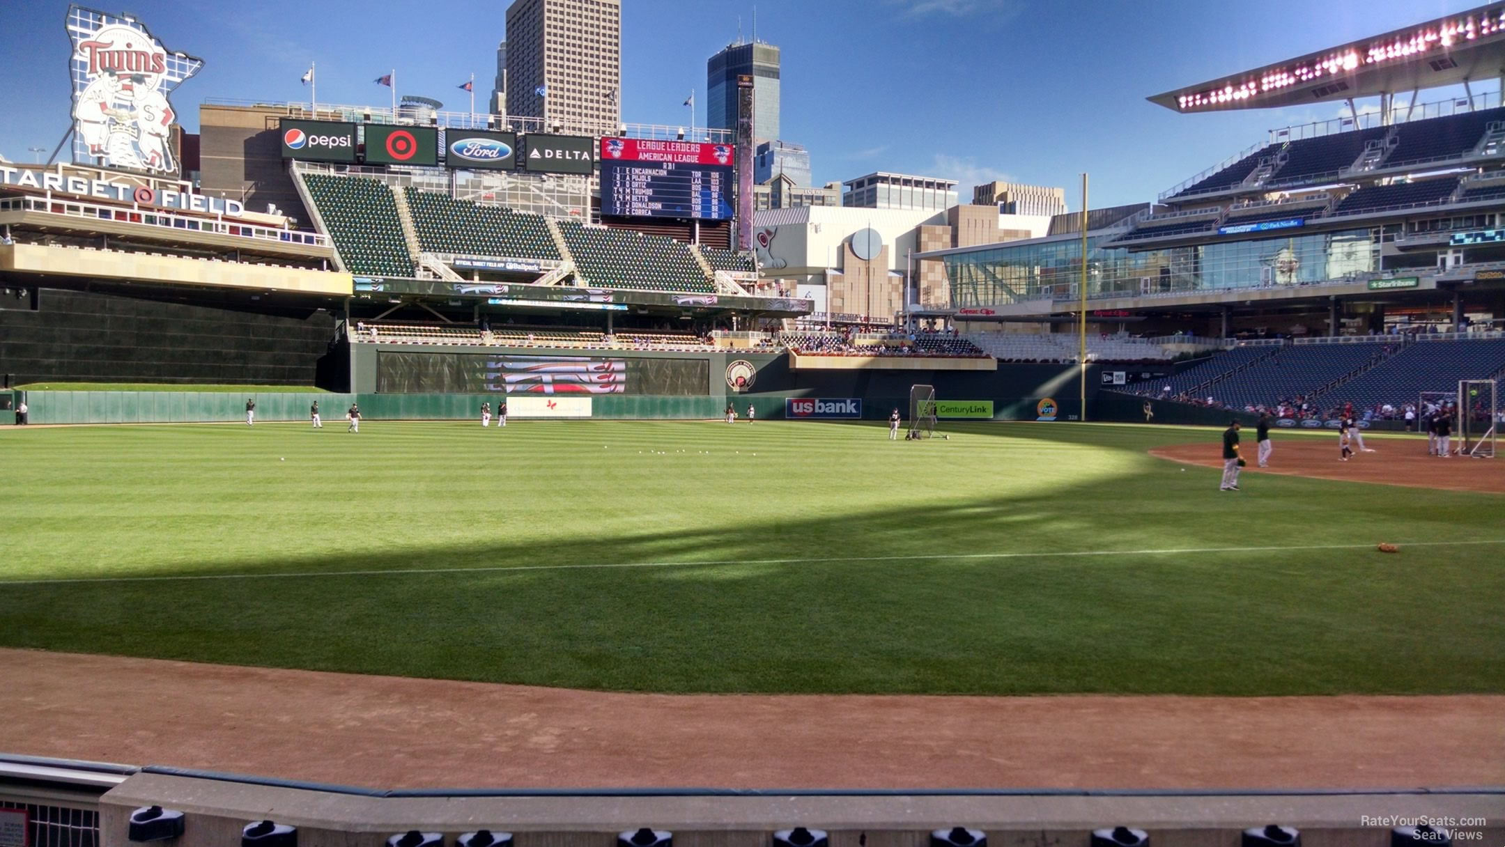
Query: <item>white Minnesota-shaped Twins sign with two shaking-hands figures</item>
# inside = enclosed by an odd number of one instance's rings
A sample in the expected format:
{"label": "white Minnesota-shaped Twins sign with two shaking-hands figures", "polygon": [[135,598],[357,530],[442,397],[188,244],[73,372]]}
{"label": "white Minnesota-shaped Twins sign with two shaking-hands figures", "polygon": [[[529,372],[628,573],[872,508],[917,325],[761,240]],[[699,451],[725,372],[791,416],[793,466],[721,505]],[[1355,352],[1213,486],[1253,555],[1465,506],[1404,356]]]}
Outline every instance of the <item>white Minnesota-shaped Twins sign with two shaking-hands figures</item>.
{"label": "white Minnesota-shaped Twins sign with two shaking-hands figures", "polygon": [[169,53],[140,21],[69,6],[74,53],[74,162],[176,175],[176,113],[167,99],[203,68],[202,59]]}

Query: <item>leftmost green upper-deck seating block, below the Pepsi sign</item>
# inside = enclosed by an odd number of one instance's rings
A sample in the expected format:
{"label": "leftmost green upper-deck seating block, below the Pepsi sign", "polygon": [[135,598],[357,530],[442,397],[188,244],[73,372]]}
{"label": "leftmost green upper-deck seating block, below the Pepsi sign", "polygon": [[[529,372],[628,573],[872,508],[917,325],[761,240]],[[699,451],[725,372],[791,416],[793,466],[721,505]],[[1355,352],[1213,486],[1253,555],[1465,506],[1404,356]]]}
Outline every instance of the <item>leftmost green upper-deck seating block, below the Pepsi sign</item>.
{"label": "leftmost green upper-deck seating block, below the Pepsi sign", "polygon": [[309,194],[319,208],[336,250],[352,274],[411,277],[412,256],[397,220],[397,200],[376,179],[307,173]]}

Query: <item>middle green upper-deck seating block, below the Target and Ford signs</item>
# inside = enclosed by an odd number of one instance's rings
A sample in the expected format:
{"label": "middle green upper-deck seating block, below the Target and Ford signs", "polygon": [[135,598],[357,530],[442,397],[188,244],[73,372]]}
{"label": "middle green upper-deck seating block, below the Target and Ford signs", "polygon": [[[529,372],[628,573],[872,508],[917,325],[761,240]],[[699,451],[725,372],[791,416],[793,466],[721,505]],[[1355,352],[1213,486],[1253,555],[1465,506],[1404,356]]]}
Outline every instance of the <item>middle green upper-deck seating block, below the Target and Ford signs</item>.
{"label": "middle green upper-deck seating block, below the Target and Ford signs", "polygon": [[406,196],[418,245],[424,251],[549,262],[560,259],[554,236],[539,215],[417,188],[408,188]]}

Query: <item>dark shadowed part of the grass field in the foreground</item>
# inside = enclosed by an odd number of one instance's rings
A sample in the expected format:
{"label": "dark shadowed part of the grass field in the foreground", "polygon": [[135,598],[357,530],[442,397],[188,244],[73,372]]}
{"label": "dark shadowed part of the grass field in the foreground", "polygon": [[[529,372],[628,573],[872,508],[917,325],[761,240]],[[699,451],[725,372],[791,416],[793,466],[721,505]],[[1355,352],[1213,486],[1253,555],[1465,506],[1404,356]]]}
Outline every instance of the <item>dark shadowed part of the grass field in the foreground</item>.
{"label": "dark shadowed part of the grass field in the foreground", "polygon": [[[1034,438],[1019,429],[1008,435]],[[1041,435],[1103,442],[1085,427]],[[838,521],[727,515],[613,537],[561,515],[569,531],[546,543],[163,573],[265,576],[250,579],[9,584],[0,644],[668,692],[1505,691],[1497,546],[1382,560],[1312,549],[1368,543],[1374,522],[1403,540],[1460,540],[1458,527],[1484,539],[1493,501],[1333,499],[1273,478],[1269,493],[1300,498],[1240,498],[1213,490],[1210,474],[1103,472]],[[963,558],[1189,548],[1212,552]],[[670,561],[682,564],[530,569]],[[354,570],[390,573],[271,576]]]}

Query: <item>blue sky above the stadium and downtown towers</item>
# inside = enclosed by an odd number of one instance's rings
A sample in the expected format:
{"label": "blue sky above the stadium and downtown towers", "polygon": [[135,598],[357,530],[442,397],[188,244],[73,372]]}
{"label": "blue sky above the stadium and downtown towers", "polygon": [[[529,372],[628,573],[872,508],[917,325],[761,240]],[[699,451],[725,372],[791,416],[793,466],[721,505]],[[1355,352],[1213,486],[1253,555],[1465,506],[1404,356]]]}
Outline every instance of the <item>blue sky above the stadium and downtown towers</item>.
{"label": "blue sky above the stadium and downtown towers", "polygon": [[[123,0],[122,0],[123,2]],[[119,11],[116,3],[84,3]],[[129,0],[169,50],[206,60],[173,96],[185,126],[203,98],[485,102],[506,0]],[[1181,116],[1144,98],[1475,6],[1469,0],[759,0],[757,36],[783,48],[783,135],[810,147],[817,182],[873,170],[1067,187],[1091,205],[1151,200],[1264,138],[1326,120],[1339,104]],[[60,0],[0,0],[0,155],[32,161],[68,128]],[[625,0],[623,119],[704,123],[706,59],[752,30],[752,2]],[[1475,90],[1493,90],[1487,81]],[[1445,99],[1446,92],[1422,99]]]}

